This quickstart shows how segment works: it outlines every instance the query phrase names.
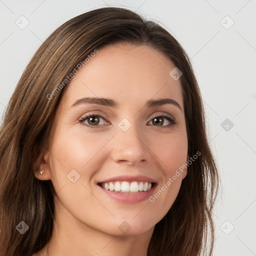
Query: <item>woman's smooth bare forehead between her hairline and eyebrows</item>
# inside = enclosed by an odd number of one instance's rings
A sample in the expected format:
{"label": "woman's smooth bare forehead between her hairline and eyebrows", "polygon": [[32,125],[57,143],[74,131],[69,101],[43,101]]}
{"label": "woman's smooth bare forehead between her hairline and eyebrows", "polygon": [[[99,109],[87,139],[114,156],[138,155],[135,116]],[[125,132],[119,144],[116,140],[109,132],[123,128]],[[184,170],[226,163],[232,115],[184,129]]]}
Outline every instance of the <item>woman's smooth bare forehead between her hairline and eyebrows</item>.
{"label": "woman's smooth bare forehead between her hairline and eyebrows", "polygon": [[164,54],[147,45],[107,45],[77,69],[66,85],[63,100],[70,106],[77,98],[97,96],[130,105],[170,97],[183,109],[180,79],[169,75],[174,67]]}

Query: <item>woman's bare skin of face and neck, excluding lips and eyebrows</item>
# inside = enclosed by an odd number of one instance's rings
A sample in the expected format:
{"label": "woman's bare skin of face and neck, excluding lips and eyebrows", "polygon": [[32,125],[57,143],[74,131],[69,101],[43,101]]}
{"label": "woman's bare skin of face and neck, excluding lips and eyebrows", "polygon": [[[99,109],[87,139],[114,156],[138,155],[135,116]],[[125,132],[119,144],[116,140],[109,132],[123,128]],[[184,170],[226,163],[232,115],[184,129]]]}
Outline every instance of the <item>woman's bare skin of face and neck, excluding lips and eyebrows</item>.
{"label": "woman's bare skin of face and neck, excluding lips and eyebrows", "polygon": [[[117,175],[142,174],[156,180],[158,191],[187,161],[187,135],[180,79],[169,75],[174,64],[147,45],[112,44],[81,68],[64,88],[56,112],[51,145],[37,175],[50,179],[55,188],[54,228],[48,255],[145,256],[154,229],[173,204],[187,170],[154,202],[121,203],[96,185]],[[111,98],[119,107],[96,104],[71,105],[85,96]],[[171,98],[178,102],[148,108],[149,99]],[[100,114],[99,128],[82,125],[85,114]],[[155,116],[171,115],[159,126]],[[118,127],[126,118],[127,131]],[[160,119],[161,120],[161,119]],[[87,118],[84,121],[89,122]],[[94,124],[95,125],[95,124]],[[167,128],[164,128],[167,127]],[[75,169],[80,178],[72,183],[67,174]],[[126,221],[130,230],[118,226]],[[46,254],[46,248],[41,254]]]}

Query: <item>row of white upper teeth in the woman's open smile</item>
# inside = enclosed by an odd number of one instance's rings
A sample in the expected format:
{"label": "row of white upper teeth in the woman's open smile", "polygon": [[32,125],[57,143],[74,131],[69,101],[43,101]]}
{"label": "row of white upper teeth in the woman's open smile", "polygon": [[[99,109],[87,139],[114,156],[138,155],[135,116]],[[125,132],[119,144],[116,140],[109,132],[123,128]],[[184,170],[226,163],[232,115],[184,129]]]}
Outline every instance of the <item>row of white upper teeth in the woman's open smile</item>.
{"label": "row of white upper teeth in the woman's open smile", "polygon": [[116,181],[116,182],[106,182],[102,184],[102,187],[110,191],[119,191],[119,192],[131,192],[136,193],[138,191],[147,191],[151,188],[152,183],[140,181]]}

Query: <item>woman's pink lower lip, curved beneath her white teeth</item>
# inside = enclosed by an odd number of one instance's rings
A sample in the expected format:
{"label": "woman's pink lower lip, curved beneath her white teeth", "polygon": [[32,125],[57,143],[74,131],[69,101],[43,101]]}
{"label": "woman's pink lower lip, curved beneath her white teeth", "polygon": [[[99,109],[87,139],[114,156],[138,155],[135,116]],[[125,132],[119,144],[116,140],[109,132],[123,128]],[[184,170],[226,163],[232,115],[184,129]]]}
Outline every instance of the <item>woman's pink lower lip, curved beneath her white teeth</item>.
{"label": "woman's pink lower lip, curved beneath her white teeth", "polygon": [[99,185],[98,187],[107,196],[109,196],[111,199],[114,199],[115,201],[122,202],[122,203],[136,203],[136,202],[141,202],[146,199],[149,199],[149,197],[153,194],[155,190],[156,184],[154,184],[154,186],[147,191],[141,191],[137,193],[121,193],[121,192],[106,190]]}

